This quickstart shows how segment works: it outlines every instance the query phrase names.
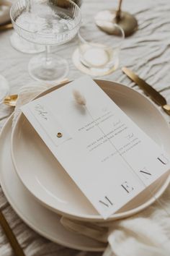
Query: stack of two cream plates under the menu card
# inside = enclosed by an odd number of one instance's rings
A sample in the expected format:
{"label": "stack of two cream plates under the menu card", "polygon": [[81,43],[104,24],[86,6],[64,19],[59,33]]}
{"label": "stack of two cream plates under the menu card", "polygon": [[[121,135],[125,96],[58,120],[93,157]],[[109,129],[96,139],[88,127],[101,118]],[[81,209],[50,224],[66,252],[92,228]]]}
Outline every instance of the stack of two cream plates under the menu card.
{"label": "stack of two cream plates under the menu card", "polygon": [[[170,151],[168,124],[148,98],[125,85],[104,80],[96,82],[144,132],[167,152]],[[38,97],[56,89],[47,90]],[[0,148],[1,186],[10,204],[27,225],[66,247],[104,250],[107,244],[73,233],[62,226],[61,216],[95,223],[104,220],[66,174],[23,114],[13,129],[12,116],[6,122],[1,132]],[[132,216],[145,209],[168,185],[169,177],[163,176],[149,188],[154,198],[146,189],[107,221]]]}

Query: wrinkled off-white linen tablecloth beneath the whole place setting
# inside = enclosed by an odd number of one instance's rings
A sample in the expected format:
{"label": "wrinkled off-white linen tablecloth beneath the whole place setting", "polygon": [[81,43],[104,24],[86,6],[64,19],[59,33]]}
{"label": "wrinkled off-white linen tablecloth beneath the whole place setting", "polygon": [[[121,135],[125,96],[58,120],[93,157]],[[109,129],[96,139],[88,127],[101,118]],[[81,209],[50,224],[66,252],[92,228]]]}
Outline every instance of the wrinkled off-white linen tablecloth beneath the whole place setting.
{"label": "wrinkled off-white linen tablecloth beneath the whole place setting", "polygon": [[[83,17],[86,21],[92,20],[94,14],[99,10],[117,7],[117,1],[113,0],[84,0],[81,7]],[[135,14],[138,19],[139,29],[131,36],[126,38],[121,51],[120,67],[127,66],[138,72],[148,83],[154,88],[161,90],[170,86],[170,1],[169,0],[124,0],[122,8],[125,11]],[[17,93],[19,88],[33,80],[27,72],[27,62],[31,55],[22,54],[15,51],[10,46],[9,37],[12,31],[0,33],[0,74],[9,81],[11,93]],[[70,73],[68,78],[73,80],[81,76],[81,72],[76,70],[71,61],[71,54],[76,47],[76,38],[64,46],[58,47],[58,54],[65,56],[69,61]],[[120,69],[102,79],[121,82],[125,85],[132,86],[125,74]],[[165,90],[163,95],[166,96],[170,103],[170,89]],[[0,118],[8,113],[10,109],[6,106],[0,106]],[[167,121],[170,121],[169,116]],[[0,122],[2,127],[4,121]],[[161,131],[160,131],[161,132]],[[170,195],[166,192],[167,200]],[[167,202],[168,203],[168,202]],[[10,226],[17,235],[17,239],[24,248],[24,252],[28,256],[92,256],[102,255],[99,253],[79,252],[73,249],[62,247],[58,244],[42,238],[42,236],[32,231],[24,224],[20,218],[14,213],[9,203],[6,201],[3,192],[0,189],[0,207],[4,215],[9,221]],[[145,213],[143,213],[145,214]],[[155,215],[157,214],[155,210]],[[164,216],[162,216],[164,223]],[[165,219],[165,221],[167,221]],[[166,223],[164,223],[166,226]],[[168,225],[168,223],[167,223]],[[170,239],[170,237],[169,237]],[[118,242],[117,242],[118,244]],[[6,236],[0,227],[0,255],[12,256],[12,249],[8,244]],[[120,253],[118,256],[122,255]],[[130,255],[130,253],[129,253]]]}

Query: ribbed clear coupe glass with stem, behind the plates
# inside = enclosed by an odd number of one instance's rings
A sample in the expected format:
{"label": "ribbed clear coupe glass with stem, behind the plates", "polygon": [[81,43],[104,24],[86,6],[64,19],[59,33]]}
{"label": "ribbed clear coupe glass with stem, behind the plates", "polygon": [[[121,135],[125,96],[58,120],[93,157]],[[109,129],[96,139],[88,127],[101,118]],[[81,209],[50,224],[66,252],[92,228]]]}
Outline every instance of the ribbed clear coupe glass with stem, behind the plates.
{"label": "ribbed clear coupe glass with stem, behind the plates", "polygon": [[63,80],[68,73],[65,59],[50,52],[50,46],[71,40],[79,30],[81,11],[71,0],[38,0],[27,12],[27,3],[19,0],[11,8],[11,19],[22,38],[45,46],[45,54],[34,56],[28,65],[35,80]]}

